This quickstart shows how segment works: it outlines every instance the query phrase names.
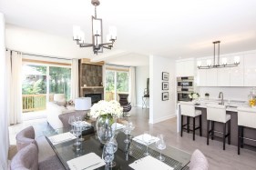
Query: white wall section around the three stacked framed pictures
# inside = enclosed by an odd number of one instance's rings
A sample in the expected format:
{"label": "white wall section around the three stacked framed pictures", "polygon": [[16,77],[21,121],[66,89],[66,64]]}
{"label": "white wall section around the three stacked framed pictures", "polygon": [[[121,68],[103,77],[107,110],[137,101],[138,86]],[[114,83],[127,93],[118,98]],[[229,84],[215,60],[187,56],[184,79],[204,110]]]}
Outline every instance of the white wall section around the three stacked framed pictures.
{"label": "white wall section around the three stacked framed pictures", "polygon": [[[169,100],[162,101],[162,72],[169,73]],[[160,56],[149,56],[150,107],[149,123],[155,124],[176,116],[175,61]]]}

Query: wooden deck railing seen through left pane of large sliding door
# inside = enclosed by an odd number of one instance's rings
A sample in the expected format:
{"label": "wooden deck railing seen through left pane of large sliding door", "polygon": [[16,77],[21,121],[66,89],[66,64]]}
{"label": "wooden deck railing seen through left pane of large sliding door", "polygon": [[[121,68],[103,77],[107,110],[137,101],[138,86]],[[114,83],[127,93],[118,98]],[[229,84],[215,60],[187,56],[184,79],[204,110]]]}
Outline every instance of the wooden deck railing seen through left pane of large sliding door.
{"label": "wooden deck railing seen through left pane of large sliding door", "polygon": [[46,94],[22,95],[23,112],[31,112],[46,109]]}

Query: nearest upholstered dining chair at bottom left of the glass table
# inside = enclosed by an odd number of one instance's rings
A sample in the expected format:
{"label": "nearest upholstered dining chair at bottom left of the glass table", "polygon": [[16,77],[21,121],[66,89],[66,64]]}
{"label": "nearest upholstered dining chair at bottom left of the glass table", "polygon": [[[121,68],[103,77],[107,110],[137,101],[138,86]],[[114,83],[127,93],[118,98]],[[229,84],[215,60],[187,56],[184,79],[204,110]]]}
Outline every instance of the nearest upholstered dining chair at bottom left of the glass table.
{"label": "nearest upholstered dining chair at bottom left of the glass table", "polygon": [[11,170],[38,170],[38,167],[38,150],[35,144],[21,148],[11,163]]}

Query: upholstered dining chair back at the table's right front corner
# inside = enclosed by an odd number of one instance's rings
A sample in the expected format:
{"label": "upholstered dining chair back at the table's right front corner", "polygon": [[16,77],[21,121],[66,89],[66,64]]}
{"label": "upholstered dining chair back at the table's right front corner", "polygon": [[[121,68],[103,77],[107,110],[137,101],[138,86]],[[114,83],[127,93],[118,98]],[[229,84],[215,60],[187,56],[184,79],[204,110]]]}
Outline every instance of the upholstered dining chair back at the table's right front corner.
{"label": "upholstered dining chair back at the table's right front corner", "polygon": [[189,170],[208,170],[209,164],[208,161],[200,150],[195,150],[191,156],[189,163]]}

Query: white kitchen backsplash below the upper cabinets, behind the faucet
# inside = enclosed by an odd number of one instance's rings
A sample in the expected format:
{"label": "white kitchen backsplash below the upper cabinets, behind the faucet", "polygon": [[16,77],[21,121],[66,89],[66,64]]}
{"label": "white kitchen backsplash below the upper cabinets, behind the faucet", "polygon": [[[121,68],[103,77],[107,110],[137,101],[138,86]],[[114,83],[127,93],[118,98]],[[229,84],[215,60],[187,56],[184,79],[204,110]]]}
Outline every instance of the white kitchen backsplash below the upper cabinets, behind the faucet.
{"label": "white kitchen backsplash below the upper cabinets, behind the faucet", "polygon": [[200,97],[204,98],[205,93],[210,94],[210,98],[218,98],[219,93],[223,92],[225,100],[247,101],[251,87],[198,87]]}

